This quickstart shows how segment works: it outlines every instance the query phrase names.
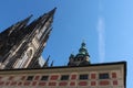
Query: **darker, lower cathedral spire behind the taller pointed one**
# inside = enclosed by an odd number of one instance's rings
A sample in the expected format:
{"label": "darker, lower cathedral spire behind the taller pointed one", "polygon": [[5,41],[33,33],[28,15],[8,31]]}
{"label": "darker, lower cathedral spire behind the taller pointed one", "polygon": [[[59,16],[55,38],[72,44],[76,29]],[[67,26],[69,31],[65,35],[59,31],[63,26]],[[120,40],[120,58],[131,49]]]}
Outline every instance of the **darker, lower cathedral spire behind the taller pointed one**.
{"label": "darker, lower cathedral spire behind the taller pointed one", "polygon": [[[6,31],[0,33],[0,56],[3,57],[4,54],[7,54],[13,45],[18,41],[20,41],[19,37],[21,37],[22,30],[27,26],[29,20],[32,15],[25,18],[24,20],[11,25]],[[2,61],[2,59],[1,59]]]}

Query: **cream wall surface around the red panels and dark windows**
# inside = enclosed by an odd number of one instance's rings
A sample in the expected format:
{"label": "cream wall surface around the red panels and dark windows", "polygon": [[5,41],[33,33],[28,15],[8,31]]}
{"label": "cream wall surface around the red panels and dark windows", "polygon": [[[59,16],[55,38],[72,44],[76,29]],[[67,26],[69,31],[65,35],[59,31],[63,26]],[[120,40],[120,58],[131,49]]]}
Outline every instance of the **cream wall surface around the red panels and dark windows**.
{"label": "cream wall surface around the red panels and dark windows", "polygon": [[[88,88],[91,87],[91,81],[96,81],[96,85],[93,88],[124,88],[124,65],[103,65],[103,66],[89,66],[89,67],[69,67],[69,68],[50,68],[50,69],[30,69],[30,70],[12,70],[12,72],[0,72],[0,76],[3,77],[2,80],[0,81],[7,81],[9,76],[16,76],[16,81],[20,81],[20,77],[21,76],[42,76],[42,75],[59,75],[61,77],[61,75],[72,75],[72,74],[76,74],[76,75],[81,75],[81,74],[89,74],[89,79],[84,80],[88,82],[86,86],[79,86],[78,84],[81,81],[79,80],[79,77],[73,80],[75,81],[75,86],[71,87],[69,84],[70,81],[72,81],[71,79],[66,80],[68,86],[65,87],[59,87],[59,86],[42,86],[39,87],[37,86],[1,86],[0,88]],[[110,77],[112,73],[116,73],[116,78],[110,78],[108,79],[110,81],[110,85],[108,86],[100,86],[99,82],[101,80],[104,79],[99,79],[99,74],[100,73],[109,73]],[[96,74],[96,78],[95,79],[90,79],[91,74]],[[55,82],[61,82],[60,77],[57,80],[52,80]],[[113,86],[112,81],[113,80],[117,80],[117,85]],[[38,82],[40,82],[41,80],[38,80]],[[50,79],[48,80],[50,81]]]}

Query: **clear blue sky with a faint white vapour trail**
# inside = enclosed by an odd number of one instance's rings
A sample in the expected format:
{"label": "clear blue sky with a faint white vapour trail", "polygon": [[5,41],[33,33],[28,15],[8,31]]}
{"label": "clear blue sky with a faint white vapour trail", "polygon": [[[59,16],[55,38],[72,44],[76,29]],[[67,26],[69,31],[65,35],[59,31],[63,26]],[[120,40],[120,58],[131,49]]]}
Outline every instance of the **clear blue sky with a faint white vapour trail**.
{"label": "clear blue sky with a faint white vapour trail", "polygon": [[127,62],[127,88],[133,86],[133,0],[1,0],[0,32],[33,14],[57,7],[53,31],[43,57],[66,65],[82,41],[91,63]]}

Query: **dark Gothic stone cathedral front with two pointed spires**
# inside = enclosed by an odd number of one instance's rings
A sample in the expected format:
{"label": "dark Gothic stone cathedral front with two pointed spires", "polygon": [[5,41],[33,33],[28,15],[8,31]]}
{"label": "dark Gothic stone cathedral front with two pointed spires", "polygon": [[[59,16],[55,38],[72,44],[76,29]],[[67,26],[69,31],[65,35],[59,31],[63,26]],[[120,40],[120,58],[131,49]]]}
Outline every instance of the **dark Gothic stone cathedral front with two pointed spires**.
{"label": "dark Gothic stone cathedral front with two pointed spires", "polygon": [[0,69],[40,67],[55,8],[29,23],[32,15],[0,33]]}

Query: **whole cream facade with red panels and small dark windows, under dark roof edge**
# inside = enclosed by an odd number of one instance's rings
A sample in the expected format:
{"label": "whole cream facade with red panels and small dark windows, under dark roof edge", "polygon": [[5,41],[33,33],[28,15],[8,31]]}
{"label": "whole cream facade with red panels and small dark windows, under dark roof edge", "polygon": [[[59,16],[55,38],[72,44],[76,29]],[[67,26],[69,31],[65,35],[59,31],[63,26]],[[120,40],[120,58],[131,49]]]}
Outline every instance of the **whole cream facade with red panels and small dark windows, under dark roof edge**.
{"label": "whole cream facade with red panels and small dark windows, under dark roof edge", "polygon": [[125,88],[126,63],[0,70],[0,88]]}

